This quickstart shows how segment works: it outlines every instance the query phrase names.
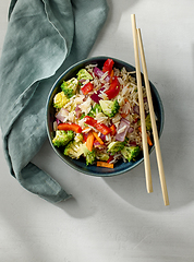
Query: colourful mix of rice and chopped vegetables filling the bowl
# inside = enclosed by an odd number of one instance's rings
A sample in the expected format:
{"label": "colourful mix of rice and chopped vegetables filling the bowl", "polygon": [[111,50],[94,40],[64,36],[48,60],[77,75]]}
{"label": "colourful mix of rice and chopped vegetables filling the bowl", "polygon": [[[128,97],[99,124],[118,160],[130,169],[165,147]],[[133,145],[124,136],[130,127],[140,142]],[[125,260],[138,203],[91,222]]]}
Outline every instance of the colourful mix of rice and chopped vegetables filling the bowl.
{"label": "colourful mix of rice and chopped vegetables filling the bowl", "polygon": [[[86,165],[113,168],[119,159],[134,162],[142,151],[138,94],[133,72],[117,69],[112,59],[89,64],[63,81],[53,97],[53,146]],[[147,142],[151,124],[143,87]]]}

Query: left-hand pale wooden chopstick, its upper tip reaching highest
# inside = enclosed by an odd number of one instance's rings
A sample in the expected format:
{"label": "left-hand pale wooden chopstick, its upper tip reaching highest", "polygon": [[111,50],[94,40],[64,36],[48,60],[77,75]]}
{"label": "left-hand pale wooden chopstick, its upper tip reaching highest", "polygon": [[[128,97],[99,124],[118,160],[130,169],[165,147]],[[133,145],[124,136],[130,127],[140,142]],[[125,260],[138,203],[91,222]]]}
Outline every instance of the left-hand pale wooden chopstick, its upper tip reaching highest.
{"label": "left-hand pale wooden chopstick, its upper tip reaching highest", "polygon": [[136,67],[136,80],[137,80],[140,115],[141,115],[145,178],[146,178],[147,192],[150,193],[153,192],[153,182],[151,182],[150,162],[149,162],[149,153],[148,153],[148,145],[147,145],[147,132],[146,132],[146,124],[145,124],[145,111],[144,111],[144,99],[143,99],[143,91],[142,91],[142,78],[141,78],[141,66],[140,66],[140,57],[138,57],[135,14],[132,14],[131,19],[132,19],[134,52],[135,52],[135,67]]}

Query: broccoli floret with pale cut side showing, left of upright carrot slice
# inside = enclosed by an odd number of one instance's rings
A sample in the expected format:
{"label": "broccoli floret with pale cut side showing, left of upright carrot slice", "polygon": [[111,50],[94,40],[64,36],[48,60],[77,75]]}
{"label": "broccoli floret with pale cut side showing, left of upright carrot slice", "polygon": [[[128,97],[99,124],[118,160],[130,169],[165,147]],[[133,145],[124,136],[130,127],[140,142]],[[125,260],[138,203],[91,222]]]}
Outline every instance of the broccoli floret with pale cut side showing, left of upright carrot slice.
{"label": "broccoli floret with pale cut side showing, left of upright carrot slice", "polygon": [[85,145],[82,142],[71,141],[64,148],[64,155],[78,159],[84,154]]}

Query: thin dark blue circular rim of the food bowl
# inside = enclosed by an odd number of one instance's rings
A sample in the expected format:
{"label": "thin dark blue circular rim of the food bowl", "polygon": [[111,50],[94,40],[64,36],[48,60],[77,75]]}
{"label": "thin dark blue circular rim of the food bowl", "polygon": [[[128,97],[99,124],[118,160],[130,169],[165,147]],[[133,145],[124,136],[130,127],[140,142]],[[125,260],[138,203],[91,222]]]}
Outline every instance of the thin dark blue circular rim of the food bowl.
{"label": "thin dark blue circular rim of the food bowl", "polygon": [[[69,67],[66,70],[64,70],[60,76],[54,81],[54,83],[52,84],[52,87],[50,88],[50,92],[49,92],[49,95],[47,97],[47,102],[46,102],[46,129],[47,129],[47,136],[49,139],[49,142],[50,142],[50,145],[51,147],[53,148],[54,153],[66,164],[69,165],[71,168],[73,168],[74,170],[78,171],[78,172],[82,172],[82,174],[85,174],[85,175],[89,175],[89,176],[95,176],[95,177],[113,177],[113,176],[118,176],[118,175],[121,175],[121,174],[125,174],[132,169],[134,169],[136,166],[138,166],[141,163],[144,162],[144,157],[140,158],[138,160],[134,162],[132,166],[129,166],[126,167],[125,169],[122,169],[122,170],[118,170],[118,171],[109,171],[109,172],[106,172],[106,171],[102,171],[100,174],[97,174],[97,172],[93,172],[90,170],[87,170],[87,169],[83,169],[82,167],[78,167],[78,166],[75,166],[73,165],[71,162],[68,162],[65,158],[63,158],[59,152],[57,151],[57,148],[53,146],[52,144],[52,141],[51,141],[51,136],[50,136],[50,131],[49,131],[49,102],[51,99],[51,96],[52,96],[52,93],[53,91],[58,87],[58,83],[64,78],[64,75],[66,75],[72,69],[74,69],[75,67],[78,67],[80,64],[83,64],[83,63],[89,63],[89,62],[93,62],[94,60],[107,60],[108,58],[112,59],[114,62],[118,62],[118,63],[121,63],[123,64],[123,67],[132,67],[135,69],[134,66],[130,64],[129,62],[125,62],[123,60],[120,60],[118,58],[113,58],[113,57],[110,57],[110,56],[96,56],[96,57],[90,57],[90,58],[86,58],[86,59],[83,59],[83,60],[80,60],[75,63],[73,63],[71,67]],[[142,72],[141,72],[142,73]],[[142,73],[143,75],[143,73]],[[162,130],[163,130],[163,124],[165,124],[165,110],[163,110],[163,105],[162,105],[162,100],[161,100],[161,97],[157,91],[157,88],[155,87],[155,85],[149,81],[149,83],[151,84],[151,90],[154,90],[154,93],[155,93],[155,96],[157,97],[157,100],[158,100],[158,104],[159,104],[159,108],[160,108],[160,115],[161,115],[161,121],[160,121],[160,129],[159,129],[159,132],[158,132],[158,138],[160,139],[161,136],[161,133],[162,133]],[[149,150],[149,155],[150,153],[155,150],[155,144],[151,146],[151,148]],[[104,168],[106,169],[106,168]]]}

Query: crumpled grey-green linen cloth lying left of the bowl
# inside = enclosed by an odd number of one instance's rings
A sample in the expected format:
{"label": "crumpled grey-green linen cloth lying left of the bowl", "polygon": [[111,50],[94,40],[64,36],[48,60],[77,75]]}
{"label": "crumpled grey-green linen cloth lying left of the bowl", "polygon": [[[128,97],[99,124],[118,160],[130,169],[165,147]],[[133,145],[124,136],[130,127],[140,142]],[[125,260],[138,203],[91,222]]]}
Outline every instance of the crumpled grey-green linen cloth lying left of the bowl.
{"label": "crumpled grey-green linen cloth lying left of the bowl", "polygon": [[31,163],[47,138],[46,102],[59,75],[85,59],[107,17],[106,0],[12,0],[0,58],[0,126],[10,172],[49,202],[71,194]]}

